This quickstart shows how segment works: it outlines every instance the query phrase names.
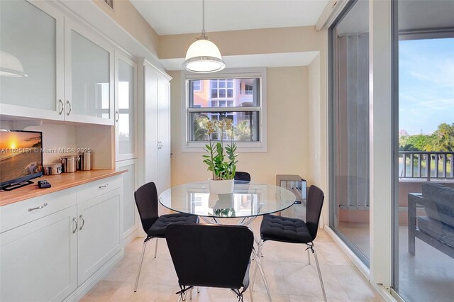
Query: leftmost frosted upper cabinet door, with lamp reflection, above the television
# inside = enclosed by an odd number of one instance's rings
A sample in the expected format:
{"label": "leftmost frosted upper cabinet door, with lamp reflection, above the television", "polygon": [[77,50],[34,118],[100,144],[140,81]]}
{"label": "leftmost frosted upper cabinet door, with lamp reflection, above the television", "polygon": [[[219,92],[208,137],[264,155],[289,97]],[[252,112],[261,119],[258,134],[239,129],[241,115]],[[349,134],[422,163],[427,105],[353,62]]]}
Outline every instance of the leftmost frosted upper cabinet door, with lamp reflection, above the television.
{"label": "leftmost frosted upper cabinet door, with lamp reflection, above the television", "polygon": [[50,4],[0,1],[0,87],[2,114],[63,119],[63,16]]}

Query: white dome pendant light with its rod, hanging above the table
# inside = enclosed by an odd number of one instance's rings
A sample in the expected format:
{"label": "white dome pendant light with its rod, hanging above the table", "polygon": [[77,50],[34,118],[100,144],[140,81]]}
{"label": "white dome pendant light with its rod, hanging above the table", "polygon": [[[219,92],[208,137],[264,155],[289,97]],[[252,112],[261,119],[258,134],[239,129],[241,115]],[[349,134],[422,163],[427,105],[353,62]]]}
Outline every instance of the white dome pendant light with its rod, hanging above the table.
{"label": "white dome pendant light with its rod, hanging above the table", "polygon": [[226,68],[218,47],[205,35],[205,0],[202,0],[201,36],[189,46],[183,68],[188,72],[199,74],[218,72]]}

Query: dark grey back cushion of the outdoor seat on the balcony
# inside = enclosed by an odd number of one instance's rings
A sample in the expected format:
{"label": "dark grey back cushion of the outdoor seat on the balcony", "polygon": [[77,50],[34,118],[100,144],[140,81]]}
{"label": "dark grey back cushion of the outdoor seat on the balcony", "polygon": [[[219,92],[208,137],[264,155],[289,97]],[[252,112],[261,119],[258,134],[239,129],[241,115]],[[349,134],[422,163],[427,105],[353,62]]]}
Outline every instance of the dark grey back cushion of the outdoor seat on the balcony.
{"label": "dark grey back cushion of the outdoor seat on the balcony", "polygon": [[421,189],[423,198],[435,203],[425,207],[427,216],[454,228],[454,188],[430,182]]}

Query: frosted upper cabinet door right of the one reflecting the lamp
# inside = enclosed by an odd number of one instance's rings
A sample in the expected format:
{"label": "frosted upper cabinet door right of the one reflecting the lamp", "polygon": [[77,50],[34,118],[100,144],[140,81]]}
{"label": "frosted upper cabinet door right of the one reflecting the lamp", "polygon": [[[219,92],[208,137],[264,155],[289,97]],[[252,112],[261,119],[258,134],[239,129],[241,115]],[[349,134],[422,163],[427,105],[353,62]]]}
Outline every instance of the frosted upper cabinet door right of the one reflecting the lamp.
{"label": "frosted upper cabinet door right of the one reflecting the lamp", "polygon": [[65,120],[114,125],[114,48],[65,18]]}

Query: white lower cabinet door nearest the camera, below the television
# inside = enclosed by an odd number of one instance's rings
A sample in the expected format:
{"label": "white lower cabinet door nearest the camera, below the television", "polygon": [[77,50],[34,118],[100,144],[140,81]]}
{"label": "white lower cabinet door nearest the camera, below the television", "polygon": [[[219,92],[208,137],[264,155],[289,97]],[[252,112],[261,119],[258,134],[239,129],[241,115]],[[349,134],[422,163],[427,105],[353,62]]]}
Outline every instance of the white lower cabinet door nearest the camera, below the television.
{"label": "white lower cabinet door nearest the camera, below the television", "polygon": [[0,234],[0,301],[62,301],[77,288],[76,206]]}

